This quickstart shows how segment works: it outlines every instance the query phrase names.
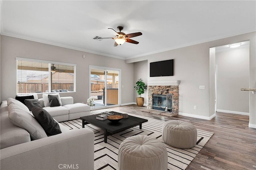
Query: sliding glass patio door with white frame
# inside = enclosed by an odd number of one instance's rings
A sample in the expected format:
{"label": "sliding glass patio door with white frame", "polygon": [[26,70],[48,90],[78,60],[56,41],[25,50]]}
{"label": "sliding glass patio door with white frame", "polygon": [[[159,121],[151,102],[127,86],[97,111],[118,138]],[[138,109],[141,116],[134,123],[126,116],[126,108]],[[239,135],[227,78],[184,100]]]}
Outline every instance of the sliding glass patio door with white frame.
{"label": "sliding glass patio door with white frame", "polygon": [[120,69],[89,66],[90,98],[95,108],[120,106]]}

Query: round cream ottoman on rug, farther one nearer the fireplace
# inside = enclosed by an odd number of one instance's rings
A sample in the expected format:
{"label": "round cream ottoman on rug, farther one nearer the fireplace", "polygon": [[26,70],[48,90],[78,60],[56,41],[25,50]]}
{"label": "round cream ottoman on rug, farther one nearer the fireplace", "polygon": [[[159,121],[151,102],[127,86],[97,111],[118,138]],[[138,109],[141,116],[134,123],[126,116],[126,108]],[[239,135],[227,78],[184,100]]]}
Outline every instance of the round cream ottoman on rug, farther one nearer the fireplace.
{"label": "round cream ottoman on rug, farther one nearer the fireplace", "polygon": [[196,145],[197,130],[187,121],[170,120],[162,127],[162,138],[172,147],[188,149]]}

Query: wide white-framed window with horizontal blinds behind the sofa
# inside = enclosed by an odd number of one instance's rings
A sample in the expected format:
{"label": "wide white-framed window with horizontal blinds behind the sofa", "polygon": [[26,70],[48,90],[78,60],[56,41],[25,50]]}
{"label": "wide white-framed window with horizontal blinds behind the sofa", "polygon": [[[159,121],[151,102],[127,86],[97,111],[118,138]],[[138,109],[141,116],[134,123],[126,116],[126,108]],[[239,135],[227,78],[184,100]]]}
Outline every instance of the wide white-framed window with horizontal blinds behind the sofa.
{"label": "wide white-framed window with horizontal blinds behind the sofa", "polygon": [[17,93],[75,92],[76,64],[17,60]]}

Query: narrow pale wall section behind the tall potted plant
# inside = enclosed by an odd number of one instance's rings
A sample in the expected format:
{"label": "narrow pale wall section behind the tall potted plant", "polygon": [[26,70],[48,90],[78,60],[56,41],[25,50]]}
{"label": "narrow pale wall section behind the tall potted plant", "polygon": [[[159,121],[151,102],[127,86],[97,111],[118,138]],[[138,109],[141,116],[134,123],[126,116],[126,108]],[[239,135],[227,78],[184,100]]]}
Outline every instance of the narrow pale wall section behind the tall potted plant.
{"label": "narrow pale wall section behind the tall potted plant", "polygon": [[[138,72],[140,74],[138,74]],[[134,63],[134,86],[135,83],[142,78],[143,81],[147,84],[148,82],[148,61],[140,61]],[[134,90],[134,101],[136,102],[136,98],[139,97],[138,93]],[[148,104],[148,90],[145,91],[141,97],[145,98],[144,105]]]}

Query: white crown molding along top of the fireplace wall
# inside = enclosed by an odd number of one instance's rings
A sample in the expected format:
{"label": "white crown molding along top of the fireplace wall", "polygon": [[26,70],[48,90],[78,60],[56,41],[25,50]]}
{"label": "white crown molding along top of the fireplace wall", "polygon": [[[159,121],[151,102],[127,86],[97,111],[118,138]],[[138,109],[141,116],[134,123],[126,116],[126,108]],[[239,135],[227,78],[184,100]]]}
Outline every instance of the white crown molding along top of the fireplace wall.
{"label": "white crown molding along top of the fireplace wall", "polygon": [[224,35],[224,36],[215,36],[215,37],[211,37],[211,38],[208,38],[208,39],[204,39],[202,41],[193,41],[193,42],[186,43],[186,44],[183,44],[183,45],[177,45],[177,46],[174,46],[174,47],[170,47],[168,49],[153,51],[153,52],[144,53],[144,54],[141,54],[141,55],[135,55],[133,57],[126,57],[125,60],[134,59],[134,58],[137,58],[137,57],[143,57],[143,56],[146,56],[146,55],[152,55],[152,54],[156,54],[156,53],[161,53],[161,52],[165,52],[165,51],[170,51],[170,50],[174,50],[174,49],[180,49],[180,48],[188,47],[188,46],[191,46],[191,45],[207,43],[207,42],[210,42],[210,41],[215,41],[215,40],[218,40],[218,39],[233,37],[233,36],[236,36],[236,35],[241,35],[241,34],[250,33],[250,32],[254,32],[254,31],[256,31],[256,30],[239,31],[239,32],[230,33],[230,34],[227,34],[227,35]]}

